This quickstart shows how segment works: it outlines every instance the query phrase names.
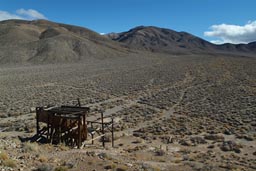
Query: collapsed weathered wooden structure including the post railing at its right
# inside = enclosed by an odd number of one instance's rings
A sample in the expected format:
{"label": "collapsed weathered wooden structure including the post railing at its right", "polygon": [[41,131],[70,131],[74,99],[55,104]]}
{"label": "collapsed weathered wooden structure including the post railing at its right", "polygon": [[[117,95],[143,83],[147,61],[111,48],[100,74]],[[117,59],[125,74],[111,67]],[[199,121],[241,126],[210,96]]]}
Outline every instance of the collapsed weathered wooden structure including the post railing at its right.
{"label": "collapsed weathered wooden structure including the post railing at its right", "polygon": [[[111,132],[112,146],[114,146],[113,118],[109,122],[104,122],[103,112],[100,112],[100,118],[88,121],[89,111],[90,108],[81,107],[80,103],[79,106],[37,107],[37,135],[45,137],[48,143],[64,143],[78,148],[83,147],[85,142],[91,141],[93,144],[95,139],[101,138],[105,147],[106,132]],[[91,140],[88,140],[88,135],[91,136]]]}

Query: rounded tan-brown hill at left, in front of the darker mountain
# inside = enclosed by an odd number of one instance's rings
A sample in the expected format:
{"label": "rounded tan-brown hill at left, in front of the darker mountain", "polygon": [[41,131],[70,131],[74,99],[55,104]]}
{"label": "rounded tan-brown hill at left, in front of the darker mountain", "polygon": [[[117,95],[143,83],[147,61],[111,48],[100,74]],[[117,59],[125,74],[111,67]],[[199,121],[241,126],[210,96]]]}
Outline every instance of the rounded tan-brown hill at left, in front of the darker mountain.
{"label": "rounded tan-brown hill at left, in front of the darker mountain", "polygon": [[0,22],[0,63],[67,63],[128,50],[86,28],[46,20]]}

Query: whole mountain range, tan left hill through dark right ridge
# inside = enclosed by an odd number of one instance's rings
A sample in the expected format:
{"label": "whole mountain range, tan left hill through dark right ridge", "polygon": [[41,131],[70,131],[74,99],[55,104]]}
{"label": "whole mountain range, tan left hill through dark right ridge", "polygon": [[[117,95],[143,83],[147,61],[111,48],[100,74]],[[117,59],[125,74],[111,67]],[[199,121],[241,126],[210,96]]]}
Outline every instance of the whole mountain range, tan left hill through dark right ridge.
{"label": "whole mountain range, tan left hill through dark right ridge", "polygon": [[68,63],[145,52],[253,56],[256,42],[215,45],[186,32],[154,26],[100,35],[47,20],[0,22],[0,64]]}

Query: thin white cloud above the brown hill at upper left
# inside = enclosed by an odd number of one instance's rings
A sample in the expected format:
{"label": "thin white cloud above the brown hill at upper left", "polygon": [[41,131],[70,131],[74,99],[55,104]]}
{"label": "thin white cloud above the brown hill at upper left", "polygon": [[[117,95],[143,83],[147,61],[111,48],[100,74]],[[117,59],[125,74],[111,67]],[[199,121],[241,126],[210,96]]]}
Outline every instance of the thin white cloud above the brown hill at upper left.
{"label": "thin white cloud above the brown hill at upper left", "polygon": [[18,9],[16,13],[10,13],[7,11],[0,10],[0,21],[9,19],[23,19],[23,20],[36,20],[36,19],[47,19],[40,12],[33,9]]}

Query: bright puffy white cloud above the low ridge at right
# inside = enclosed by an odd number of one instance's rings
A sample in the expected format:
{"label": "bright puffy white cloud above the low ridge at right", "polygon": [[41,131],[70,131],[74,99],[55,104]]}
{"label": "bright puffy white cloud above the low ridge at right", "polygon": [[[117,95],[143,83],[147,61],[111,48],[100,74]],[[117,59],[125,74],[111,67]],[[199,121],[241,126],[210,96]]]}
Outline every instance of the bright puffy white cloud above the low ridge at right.
{"label": "bright puffy white cloud above the low ridge at right", "polygon": [[215,37],[218,40],[211,41],[212,43],[249,43],[256,41],[256,21],[249,21],[243,26],[220,24],[212,25],[212,31],[204,32],[204,36]]}

